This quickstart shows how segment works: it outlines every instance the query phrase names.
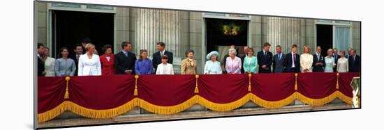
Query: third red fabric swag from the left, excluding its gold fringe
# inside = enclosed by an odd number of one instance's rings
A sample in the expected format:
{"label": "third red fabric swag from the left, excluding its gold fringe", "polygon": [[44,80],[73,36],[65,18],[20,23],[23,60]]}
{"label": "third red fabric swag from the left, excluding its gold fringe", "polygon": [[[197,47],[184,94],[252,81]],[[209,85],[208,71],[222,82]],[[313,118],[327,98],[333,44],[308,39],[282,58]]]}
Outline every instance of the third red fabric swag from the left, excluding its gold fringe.
{"label": "third red fabric swag from the left, excluding its gold fringe", "polygon": [[195,75],[143,75],[138,79],[138,97],[158,106],[181,104],[193,97],[194,89]]}

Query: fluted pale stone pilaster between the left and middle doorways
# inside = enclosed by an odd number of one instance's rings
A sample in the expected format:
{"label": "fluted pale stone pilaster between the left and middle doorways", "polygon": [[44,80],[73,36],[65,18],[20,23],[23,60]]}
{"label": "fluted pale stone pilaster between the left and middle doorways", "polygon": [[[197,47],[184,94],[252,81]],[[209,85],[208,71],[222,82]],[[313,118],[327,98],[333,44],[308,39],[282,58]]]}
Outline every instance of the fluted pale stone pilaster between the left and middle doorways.
{"label": "fluted pale stone pilaster between the left and middle doorways", "polygon": [[[147,49],[148,56],[156,52],[156,42],[180,56],[182,42],[182,12],[174,10],[135,9],[135,50]],[[138,55],[138,54],[137,54]]]}

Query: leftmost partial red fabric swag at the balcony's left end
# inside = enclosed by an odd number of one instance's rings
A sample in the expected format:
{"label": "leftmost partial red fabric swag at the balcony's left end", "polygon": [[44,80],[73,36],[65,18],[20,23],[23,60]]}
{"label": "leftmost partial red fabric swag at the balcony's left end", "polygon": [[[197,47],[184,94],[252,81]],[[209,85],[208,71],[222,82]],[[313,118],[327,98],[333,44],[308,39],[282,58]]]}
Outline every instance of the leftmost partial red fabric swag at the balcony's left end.
{"label": "leftmost partial red fabric swag at the balcony's left end", "polygon": [[49,111],[64,101],[65,78],[64,76],[38,77],[38,113]]}

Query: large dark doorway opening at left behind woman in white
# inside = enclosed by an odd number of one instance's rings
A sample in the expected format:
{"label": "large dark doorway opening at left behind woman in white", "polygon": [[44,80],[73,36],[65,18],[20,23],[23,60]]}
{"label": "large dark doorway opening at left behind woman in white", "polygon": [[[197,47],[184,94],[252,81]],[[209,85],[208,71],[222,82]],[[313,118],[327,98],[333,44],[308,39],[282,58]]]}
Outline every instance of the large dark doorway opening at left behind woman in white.
{"label": "large dark doorway opening at left behind woman in white", "polygon": [[61,47],[68,47],[73,55],[73,46],[84,38],[90,38],[98,54],[103,54],[103,45],[114,45],[114,14],[52,10],[52,56]]}

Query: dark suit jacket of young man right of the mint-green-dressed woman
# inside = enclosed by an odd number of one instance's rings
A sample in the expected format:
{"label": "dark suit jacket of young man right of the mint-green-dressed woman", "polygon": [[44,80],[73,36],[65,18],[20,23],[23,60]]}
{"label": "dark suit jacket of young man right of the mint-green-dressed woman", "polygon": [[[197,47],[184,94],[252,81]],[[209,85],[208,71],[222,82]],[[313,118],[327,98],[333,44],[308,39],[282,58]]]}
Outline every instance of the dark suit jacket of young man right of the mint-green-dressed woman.
{"label": "dark suit jacket of young man right of the mint-green-dressed woman", "polygon": [[[271,65],[272,65],[272,52],[267,51],[267,55],[264,56],[264,52],[258,52],[258,73],[271,73]],[[268,70],[263,69],[263,65],[267,65]]]}

